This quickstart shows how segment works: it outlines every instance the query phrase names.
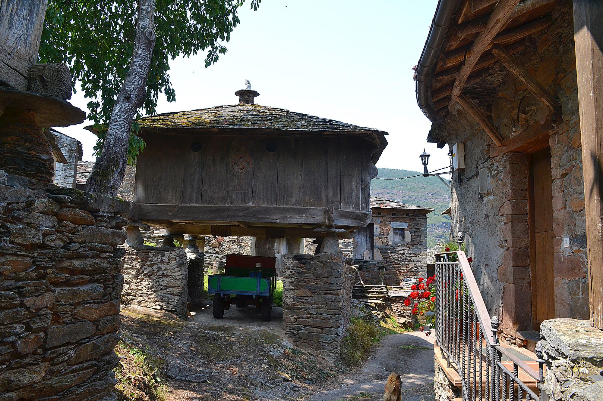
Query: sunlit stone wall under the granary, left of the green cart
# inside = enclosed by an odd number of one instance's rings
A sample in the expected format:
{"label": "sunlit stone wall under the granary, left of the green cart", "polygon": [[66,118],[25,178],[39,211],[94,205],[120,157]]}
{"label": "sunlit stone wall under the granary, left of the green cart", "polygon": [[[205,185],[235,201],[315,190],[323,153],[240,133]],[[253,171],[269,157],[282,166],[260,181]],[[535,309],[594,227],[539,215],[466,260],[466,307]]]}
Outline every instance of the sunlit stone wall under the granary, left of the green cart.
{"label": "sunlit stone wall under the granary, left of the green cart", "polygon": [[122,303],[186,319],[188,264],[183,247],[125,246]]}

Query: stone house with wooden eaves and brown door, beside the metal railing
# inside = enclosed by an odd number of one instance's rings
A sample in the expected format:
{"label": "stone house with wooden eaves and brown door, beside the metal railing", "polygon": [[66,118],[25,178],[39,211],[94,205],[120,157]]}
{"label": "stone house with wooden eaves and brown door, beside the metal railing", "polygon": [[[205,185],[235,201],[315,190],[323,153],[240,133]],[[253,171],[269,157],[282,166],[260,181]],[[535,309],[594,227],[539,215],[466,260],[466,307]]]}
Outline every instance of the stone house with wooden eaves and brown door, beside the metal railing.
{"label": "stone house with wooden eaves and brown door, beside the metal railing", "polygon": [[[587,241],[596,218],[587,217],[584,193],[598,194],[586,169],[592,178],[601,155],[583,148],[596,129],[603,135],[600,107],[584,120],[603,96],[588,87],[592,73],[601,81],[601,64],[590,64],[601,51],[589,47],[590,33],[602,37],[601,15],[599,2],[442,1],[415,77],[432,121],[428,141],[453,154],[453,234],[464,235],[488,312],[502,320],[500,340],[545,344],[542,388],[555,400],[600,399],[589,391],[602,379],[601,353],[572,347],[600,343],[601,332],[569,335],[567,325],[583,327],[602,312],[600,247],[589,245],[601,226]],[[581,46],[589,50],[579,59]],[[590,275],[587,253],[595,257]],[[585,371],[593,376],[578,385],[571,370],[581,358],[591,358]]]}

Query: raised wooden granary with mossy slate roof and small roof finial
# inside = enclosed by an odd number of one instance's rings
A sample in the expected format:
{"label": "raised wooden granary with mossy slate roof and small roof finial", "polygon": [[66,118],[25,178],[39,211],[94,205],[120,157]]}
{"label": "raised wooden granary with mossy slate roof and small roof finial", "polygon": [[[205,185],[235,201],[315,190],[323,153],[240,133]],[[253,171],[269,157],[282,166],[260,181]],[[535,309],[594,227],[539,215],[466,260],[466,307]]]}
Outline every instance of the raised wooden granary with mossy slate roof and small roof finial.
{"label": "raised wooden granary with mossy slate roof and small roof finial", "polygon": [[254,104],[145,117],[131,219],[170,234],[350,237],[387,132]]}

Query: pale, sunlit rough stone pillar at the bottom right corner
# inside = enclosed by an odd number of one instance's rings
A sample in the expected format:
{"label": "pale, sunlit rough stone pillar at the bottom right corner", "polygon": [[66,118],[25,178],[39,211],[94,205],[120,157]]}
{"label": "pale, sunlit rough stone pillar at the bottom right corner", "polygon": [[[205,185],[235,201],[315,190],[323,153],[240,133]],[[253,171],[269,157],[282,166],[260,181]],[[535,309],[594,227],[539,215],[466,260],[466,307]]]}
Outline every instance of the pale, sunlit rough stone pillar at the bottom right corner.
{"label": "pale, sunlit rough stone pillar at the bottom right corner", "polygon": [[558,318],[542,322],[540,338],[536,355],[547,367],[543,399],[603,399],[603,331],[589,320]]}

